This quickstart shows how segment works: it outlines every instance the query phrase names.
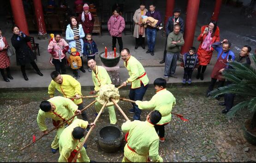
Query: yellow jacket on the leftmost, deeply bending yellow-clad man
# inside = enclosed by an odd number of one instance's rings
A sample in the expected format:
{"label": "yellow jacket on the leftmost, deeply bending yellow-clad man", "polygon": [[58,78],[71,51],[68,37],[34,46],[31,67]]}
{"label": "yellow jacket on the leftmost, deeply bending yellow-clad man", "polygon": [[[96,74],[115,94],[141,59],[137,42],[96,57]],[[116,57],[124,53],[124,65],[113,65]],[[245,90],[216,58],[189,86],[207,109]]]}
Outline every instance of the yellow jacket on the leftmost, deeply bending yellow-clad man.
{"label": "yellow jacket on the leftmost, deeply bending yellow-clad man", "polygon": [[[54,121],[63,122],[71,116],[75,115],[75,111],[77,111],[78,106],[71,101],[71,99],[67,99],[61,96],[56,96],[51,99],[48,99],[50,103],[52,103],[56,108],[54,111],[42,111],[41,109],[37,114],[37,125],[41,131],[47,130],[45,125],[45,118],[52,118]],[[74,119],[77,119],[75,116],[67,123],[70,124]],[[58,125],[58,124],[57,124]]]}

